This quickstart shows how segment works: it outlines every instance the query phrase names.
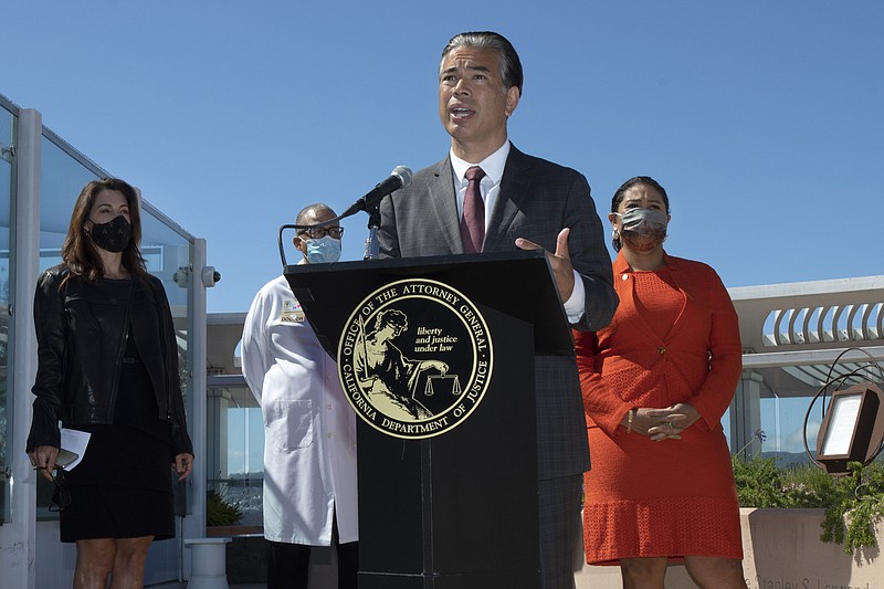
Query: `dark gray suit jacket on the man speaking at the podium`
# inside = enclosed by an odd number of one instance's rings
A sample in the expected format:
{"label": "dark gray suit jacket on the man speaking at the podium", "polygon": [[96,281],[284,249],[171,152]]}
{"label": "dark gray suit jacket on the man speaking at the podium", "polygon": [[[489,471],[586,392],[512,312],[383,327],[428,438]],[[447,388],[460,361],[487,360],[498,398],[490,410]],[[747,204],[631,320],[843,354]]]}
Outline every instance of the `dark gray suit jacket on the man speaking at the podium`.
{"label": "dark gray suit jacket on the man speaking at the podium", "polygon": [[[464,253],[448,157],[414,175],[408,189],[385,198],[380,211],[381,256]],[[511,146],[483,252],[514,251],[516,238],[555,252],[556,236],[566,227],[571,229],[571,264],[586,291],[586,314],[573,327],[596,330],[610,323],[618,299],[589,183],[576,170],[527,156]],[[537,356],[535,380],[538,478],[588,470],[589,444],[575,358]]]}

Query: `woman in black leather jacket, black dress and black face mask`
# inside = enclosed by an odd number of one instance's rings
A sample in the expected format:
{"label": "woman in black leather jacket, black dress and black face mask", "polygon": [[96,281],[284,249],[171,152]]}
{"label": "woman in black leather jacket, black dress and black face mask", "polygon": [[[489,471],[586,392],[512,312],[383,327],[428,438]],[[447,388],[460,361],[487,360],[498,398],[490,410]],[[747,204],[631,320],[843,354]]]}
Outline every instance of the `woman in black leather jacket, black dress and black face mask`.
{"label": "woman in black leather jacket, black dress and black face mask", "polygon": [[[74,587],[141,587],[154,539],[175,536],[171,464],[193,466],[169,302],[139,250],[135,190],[88,182],[62,264],[34,296],[38,372],[28,454],[57,485],[61,539],[75,541]],[[82,462],[55,471],[62,427],[91,434]]]}

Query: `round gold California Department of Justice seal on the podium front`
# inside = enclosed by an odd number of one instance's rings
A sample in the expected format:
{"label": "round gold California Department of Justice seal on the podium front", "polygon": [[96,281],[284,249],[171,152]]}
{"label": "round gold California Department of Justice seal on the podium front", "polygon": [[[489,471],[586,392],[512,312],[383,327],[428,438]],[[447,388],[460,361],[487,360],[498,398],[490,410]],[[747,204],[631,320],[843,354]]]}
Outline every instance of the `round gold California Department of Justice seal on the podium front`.
{"label": "round gold California Department of Justice seal on the podium front", "polygon": [[347,400],[369,424],[420,440],[462,423],[492,376],[484,317],[463,294],[436,281],[408,278],[367,296],[338,344]]}

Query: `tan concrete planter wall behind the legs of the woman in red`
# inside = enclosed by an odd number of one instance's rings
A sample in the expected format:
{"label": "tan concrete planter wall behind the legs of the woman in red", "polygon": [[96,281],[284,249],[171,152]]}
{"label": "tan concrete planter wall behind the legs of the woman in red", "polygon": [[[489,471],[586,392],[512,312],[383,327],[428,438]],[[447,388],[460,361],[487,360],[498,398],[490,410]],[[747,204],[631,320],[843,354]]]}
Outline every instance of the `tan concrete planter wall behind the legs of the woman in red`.
{"label": "tan concrete planter wall behind the legs of the woman in red", "polygon": [[[823,509],[740,509],[743,570],[749,589],[884,589],[881,550],[845,555],[820,540]],[[878,545],[884,522],[877,522]],[[583,565],[577,589],[620,589],[618,567]],[[666,589],[694,589],[684,566],[671,566]]]}

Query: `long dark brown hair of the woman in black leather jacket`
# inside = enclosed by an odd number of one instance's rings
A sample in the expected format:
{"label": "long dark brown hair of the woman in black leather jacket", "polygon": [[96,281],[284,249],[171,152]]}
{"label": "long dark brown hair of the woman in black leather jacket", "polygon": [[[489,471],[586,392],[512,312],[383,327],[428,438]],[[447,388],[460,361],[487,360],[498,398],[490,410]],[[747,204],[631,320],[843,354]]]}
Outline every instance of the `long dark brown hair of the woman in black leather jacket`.
{"label": "long dark brown hair of the woman in black leather jacket", "polygon": [[72,276],[80,276],[87,282],[95,282],[104,276],[104,264],[98,254],[98,246],[86,234],[86,221],[88,221],[95,199],[102,190],[116,190],[126,198],[126,203],[129,206],[131,239],[122,252],[123,266],[133,276],[143,278],[147,276],[145,259],[141,256],[139,249],[141,243],[141,213],[138,207],[138,194],[124,180],[102,178],[101,180],[92,180],[84,186],[74,203],[71,224],[67,225],[67,236],[62,245],[62,260],[70,269],[70,274],[64,282]]}

